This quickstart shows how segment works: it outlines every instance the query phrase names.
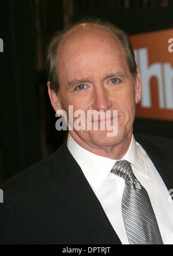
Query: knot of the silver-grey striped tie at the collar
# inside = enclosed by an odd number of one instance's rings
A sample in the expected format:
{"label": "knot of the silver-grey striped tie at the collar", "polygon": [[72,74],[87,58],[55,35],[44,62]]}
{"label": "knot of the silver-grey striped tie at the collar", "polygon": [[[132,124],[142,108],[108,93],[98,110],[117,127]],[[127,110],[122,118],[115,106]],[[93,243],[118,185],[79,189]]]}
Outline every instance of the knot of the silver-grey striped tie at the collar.
{"label": "knot of the silver-grey striped tie at the collar", "polygon": [[112,167],[111,173],[123,178],[125,182],[136,179],[131,169],[131,164],[126,160],[116,161]]}

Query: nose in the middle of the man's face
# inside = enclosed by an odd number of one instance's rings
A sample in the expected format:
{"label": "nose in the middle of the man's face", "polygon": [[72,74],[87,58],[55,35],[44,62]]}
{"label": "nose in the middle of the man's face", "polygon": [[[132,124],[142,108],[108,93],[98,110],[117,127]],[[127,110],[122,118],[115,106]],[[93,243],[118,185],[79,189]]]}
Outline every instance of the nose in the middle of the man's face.
{"label": "nose in the middle of the man's face", "polygon": [[92,109],[106,111],[107,109],[110,109],[111,106],[112,102],[108,90],[102,86],[95,87]]}

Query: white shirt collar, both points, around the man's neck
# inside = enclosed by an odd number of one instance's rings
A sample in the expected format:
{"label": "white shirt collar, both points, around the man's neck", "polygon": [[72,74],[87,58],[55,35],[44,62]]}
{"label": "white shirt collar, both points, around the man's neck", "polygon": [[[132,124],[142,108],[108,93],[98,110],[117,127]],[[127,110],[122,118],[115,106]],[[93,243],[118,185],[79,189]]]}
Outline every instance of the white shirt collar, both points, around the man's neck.
{"label": "white shirt collar, both points, around the man's neck", "polygon": [[[138,144],[139,145],[139,144]],[[131,138],[130,147],[122,159],[129,161],[137,170],[147,174],[144,158],[138,148],[134,136]],[[81,167],[86,180],[92,186],[92,189],[97,192],[103,182],[106,180],[116,160],[104,158],[103,156],[96,155],[85,148],[82,148],[73,138],[68,135],[67,148]],[[121,159],[121,160],[122,160]]]}

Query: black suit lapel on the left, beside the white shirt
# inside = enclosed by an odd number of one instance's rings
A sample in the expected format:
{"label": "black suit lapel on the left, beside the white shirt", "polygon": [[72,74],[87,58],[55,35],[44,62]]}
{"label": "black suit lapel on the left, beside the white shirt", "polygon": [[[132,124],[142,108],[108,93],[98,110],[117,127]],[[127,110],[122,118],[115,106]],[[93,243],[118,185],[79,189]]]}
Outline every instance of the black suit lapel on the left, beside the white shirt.
{"label": "black suit lapel on the left, beside the white shirt", "polygon": [[85,232],[96,244],[121,244],[80,166],[66,147],[66,142],[54,157],[55,193],[69,208]]}

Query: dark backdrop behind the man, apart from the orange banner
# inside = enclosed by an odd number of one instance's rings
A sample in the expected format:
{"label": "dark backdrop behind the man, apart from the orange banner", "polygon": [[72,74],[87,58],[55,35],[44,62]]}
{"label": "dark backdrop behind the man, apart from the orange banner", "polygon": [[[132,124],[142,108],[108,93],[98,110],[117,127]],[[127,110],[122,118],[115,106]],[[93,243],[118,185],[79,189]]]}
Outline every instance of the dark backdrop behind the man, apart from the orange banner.
{"label": "dark backdrop behind the man, apart from the orange banner", "polygon": [[[44,56],[55,31],[84,16],[129,34],[173,28],[172,0],[1,0],[0,182],[61,145],[48,99]],[[134,131],[173,138],[173,122],[136,119]]]}

